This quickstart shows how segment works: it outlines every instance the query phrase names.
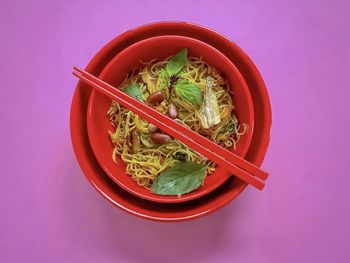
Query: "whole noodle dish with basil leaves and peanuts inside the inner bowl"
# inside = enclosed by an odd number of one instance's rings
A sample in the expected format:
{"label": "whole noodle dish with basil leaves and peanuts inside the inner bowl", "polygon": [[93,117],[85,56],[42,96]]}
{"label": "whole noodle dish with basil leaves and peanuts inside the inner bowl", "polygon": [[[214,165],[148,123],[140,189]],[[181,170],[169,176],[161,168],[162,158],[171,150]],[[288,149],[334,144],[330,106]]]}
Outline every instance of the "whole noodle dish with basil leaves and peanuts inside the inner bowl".
{"label": "whole noodle dish with basil leaves and peanuts inside the inner bowl", "polygon": [[[234,112],[225,78],[201,58],[182,49],[174,56],[143,62],[120,89],[222,147],[236,147],[248,126]],[[200,187],[215,165],[153,124],[112,102],[107,113],[114,129],[112,158],[141,186],[161,195],[182,195]]]}

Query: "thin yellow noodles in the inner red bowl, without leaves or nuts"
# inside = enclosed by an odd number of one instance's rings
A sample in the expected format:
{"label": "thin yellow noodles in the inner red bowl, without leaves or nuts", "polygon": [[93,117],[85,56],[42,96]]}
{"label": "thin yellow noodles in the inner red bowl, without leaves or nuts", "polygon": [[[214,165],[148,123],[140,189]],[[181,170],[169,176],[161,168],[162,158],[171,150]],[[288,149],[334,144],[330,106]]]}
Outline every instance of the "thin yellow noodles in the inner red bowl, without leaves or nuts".
{"label": "thin yellow noodles in the inner red bowl, without leaves or nuts", "polygon": [[[131,84],[137,84],[144,99],[158,90],[164,90],[166,100],[155,107],[158,111],[166,114],[169,103],[173,103],[179,112],[179,119],[185,125],[214,142],[226,147],[236,147],[240,136],[243,135],[248,127],[245,124],[240,125],[234,115],[234,105],[229,93],[229,87],[220,74],[210,67],[201,58],[189,58],[188,63],[181,71],[180,78],[191,83],[196,83],[202,92],[205,89],[206,78],[211,76],[214,79],[213,94],[217,97],[221,122],[209,129],[204,129],[201,125],[200,114],[202,106],[187,103],[178,97],[175,92],[170,96],[169,80],[165,76],[165,67],[167,60],[142,62],[144,68],[134,70],[123,81],[120,88],[124,90]],[[142,76],[149,74],[154,86],[148,87],[144,83]],[[163,145],[154,145],[149,140],[149,145],[137,141],[141,134],[148,137],[149,123],[142,120],[138,115],[124,109],[114,101],[107,112],[110,122],[115,127],[114,131],[109,131],[111,141],[114,144],[112,153],[113,161],[117,162],[118,156],[126,164],[126,173],[139,184],[150,188],[154,179],[163,171],[179,163],[175,158],[176,154],[182,154],[187,160],[209,164],[207,174],[215,171],[215,165],[202,155],[197,154],[184,146],[181,142],[173,139],[170,143]],[[139,139],[138,139],[139,140]],[[140,143],[140,147],[134,149],[133,144]],[[146,143],[146,142],[145,142]]]}

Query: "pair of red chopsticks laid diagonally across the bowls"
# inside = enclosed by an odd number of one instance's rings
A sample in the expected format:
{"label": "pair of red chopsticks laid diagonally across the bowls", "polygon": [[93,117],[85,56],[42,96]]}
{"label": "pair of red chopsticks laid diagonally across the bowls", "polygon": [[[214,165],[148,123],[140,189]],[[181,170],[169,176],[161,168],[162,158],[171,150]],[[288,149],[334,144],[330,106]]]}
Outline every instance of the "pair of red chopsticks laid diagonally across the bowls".
{"label": "pair of red chopsticks laid diagonally across the bowls", "polygon": [[228,171],[246,183],[251,184],[259,190],[264,188],[264,180],[267,179],[268,174],[259,167],[237,156],[229,150],[222,148],[191,129],[188,129],[184,125],[177,123],[170,117],[159,113],[145,103],[134,99],[119,89],[91,75],[90,73],[78,67],[73,67],[73,69],[73,75],[89,86],[115,100],[123,107],[154,124],[165,133],[178,139],[186,146],[192,148],[216,164],[222,165]]}

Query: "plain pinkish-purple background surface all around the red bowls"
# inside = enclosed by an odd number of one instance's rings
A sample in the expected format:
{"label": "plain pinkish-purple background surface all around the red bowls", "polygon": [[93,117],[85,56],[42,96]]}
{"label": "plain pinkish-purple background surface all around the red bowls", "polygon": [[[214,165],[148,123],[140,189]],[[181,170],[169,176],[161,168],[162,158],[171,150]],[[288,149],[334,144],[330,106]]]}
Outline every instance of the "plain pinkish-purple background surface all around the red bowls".
{"label": "plain pinkish-purple background surface all around the red bowls", "polygon": [[[0,262],[350,262],[348,1],[1,1]],[[263,192],[194,221],[116,209],[86,181],[69,110],[85,66],[134,26],[211,27],[255,61],[273,109]]]}

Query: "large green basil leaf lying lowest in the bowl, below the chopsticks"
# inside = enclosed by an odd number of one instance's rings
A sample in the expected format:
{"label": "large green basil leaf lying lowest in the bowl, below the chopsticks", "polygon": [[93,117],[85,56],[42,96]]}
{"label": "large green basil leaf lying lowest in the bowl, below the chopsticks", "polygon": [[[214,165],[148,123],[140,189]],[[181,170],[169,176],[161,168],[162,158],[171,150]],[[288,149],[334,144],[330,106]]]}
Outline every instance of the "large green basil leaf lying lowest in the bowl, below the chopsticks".
{"label": "large green basil leaf lying lowest in the bowl, below the chopsticks", "polygon": [[152,193],[160,195],[182,195],[200,187],[207,166],[194,162],[180,162],[161,173],[152,184]]}

